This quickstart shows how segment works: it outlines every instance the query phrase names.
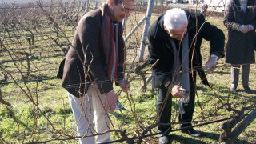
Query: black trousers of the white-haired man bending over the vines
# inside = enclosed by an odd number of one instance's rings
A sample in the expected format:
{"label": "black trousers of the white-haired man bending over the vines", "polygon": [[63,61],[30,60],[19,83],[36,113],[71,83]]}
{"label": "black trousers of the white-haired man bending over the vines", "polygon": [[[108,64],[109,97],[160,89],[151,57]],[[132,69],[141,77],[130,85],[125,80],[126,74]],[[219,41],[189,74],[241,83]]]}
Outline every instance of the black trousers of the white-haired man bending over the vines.
{"label": "black trousers of the white-haired man bending over the vines", "polygon": [[[195,74],[194,74],[195,75]],[[181,99],[179,102],[179,122],[186,122],[181,124],[181,127],[191,126],[191,121],[194,113],[194,97],[195,97],[195,83],[190,74],[190,97],[189,101]],[[158,87],[158,99],[156,102],[157,117],[158,117],[158,130],[166,131],[170,128],[172,95],[165,86]],[[187,123],[188,122],[188,123]],[[170,129],[169,129],[170,130]]]}

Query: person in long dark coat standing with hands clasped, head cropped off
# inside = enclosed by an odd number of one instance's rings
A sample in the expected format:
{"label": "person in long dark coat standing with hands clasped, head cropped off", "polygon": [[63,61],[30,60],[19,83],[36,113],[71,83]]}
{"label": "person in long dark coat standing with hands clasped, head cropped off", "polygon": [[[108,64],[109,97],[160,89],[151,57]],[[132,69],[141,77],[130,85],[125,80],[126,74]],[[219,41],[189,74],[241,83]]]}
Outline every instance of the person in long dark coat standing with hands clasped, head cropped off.
{"label": "person in long dark coat standing with hands clasped, head cropped off", "polygon": [[230,0],[224,15],[224,25],[228,29],[226,43],[226,63],[231,64],[230,90],[237,89],[239,69],[242,65],[242,86],[251,93],[248,81],[250,64],[255,63],[255,0]]}

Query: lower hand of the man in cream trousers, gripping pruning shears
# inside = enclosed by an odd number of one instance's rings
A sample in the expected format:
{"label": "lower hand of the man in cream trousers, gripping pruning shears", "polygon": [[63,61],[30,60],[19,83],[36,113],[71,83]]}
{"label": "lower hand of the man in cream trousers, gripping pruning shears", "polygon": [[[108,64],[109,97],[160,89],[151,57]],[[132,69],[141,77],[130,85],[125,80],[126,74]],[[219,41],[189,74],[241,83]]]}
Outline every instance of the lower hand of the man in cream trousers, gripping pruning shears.
{"label": "lower hand of the man in cream trousers, gripping pruning shears", "polygon": [[106,102],[103,103],[103,106],[106,110],[114,111],[116,102],[118,102],[118,95],[112,90],[106,94]]}

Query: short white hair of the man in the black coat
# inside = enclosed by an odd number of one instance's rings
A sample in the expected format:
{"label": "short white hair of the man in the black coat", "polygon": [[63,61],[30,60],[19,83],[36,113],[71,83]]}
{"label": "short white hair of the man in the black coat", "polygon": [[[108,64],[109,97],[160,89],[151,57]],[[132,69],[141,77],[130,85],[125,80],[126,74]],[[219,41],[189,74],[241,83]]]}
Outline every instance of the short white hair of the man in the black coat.
{"label": "short white hair of the man in the black coat", "polygon": [[174,8],[166,11],[164,15],[164,26],[166,29],[171,30],[180,30],[184,24],[187,25],[186,13],[182,9]]}

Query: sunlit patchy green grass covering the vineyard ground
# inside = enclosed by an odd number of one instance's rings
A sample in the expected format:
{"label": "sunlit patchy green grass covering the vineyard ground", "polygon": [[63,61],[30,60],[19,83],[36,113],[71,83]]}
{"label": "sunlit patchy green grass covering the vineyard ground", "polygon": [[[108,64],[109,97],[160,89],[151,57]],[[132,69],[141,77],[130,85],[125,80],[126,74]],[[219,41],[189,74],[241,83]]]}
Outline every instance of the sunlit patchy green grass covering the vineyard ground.
{"label": "sunlit patchy green grass covering the vineyard ground", "polygon": [[[135,14],[133,20],[128,21],[126,30],[131,30],[136,22],[142,18],[143,14]],[[158,18],[158,14],[152,14],[151,24]],[[209,22],[221,28],[226,34],[226,28],[222,25],[222,18],[209,18]],[[130,41],[126,44],[128,48],[127,67],[126,70],[134,70],[138,66],[138,48],[142,35],[142,27],[134,34]],[[70,30],[70,29],[69,29]],[[127,33],[127,31],[126,31]],[[70,36],[71,37],[71,36]],[[40,37],[42,38],[42,37]],[[66,42],[65,39],[62,39]],[[34,65],[33,70],[41,70],[40,72],[31,73],[30,79],[36,78],[54,78],[58,71],[58,64],[64,58],[62,52],[54,51],[54,46],[49,40],[39,41],[34,48]],[[27,46],[27,45],[22,45]],[[10,46],[15,48],[15,46]],[[37,49],[38,48],[38,49]],[[202,43],[203,63],[209,58],[209,43]],[[42,57],[39,57],[41,50],[44,50]],[[10,70],[15,80],[22,81],[21,75],[17,72],[17,68],[26,71],[26,60],[20,62],[18,67],[14,66],[14,62],[3,62],[10,60],[10,55],[2,50],[5,57],[0,57],[1,66],[6,70]],[[144,58],[147,56],[145,52]],[[17,57],[19,58],[19,57]],[[37,68],[36,68],[37,67]],[[250,70],[250,87],[256,89],[254,82],[256,71],[255,65]],[[146,68],[148,74],[150,70]],[[147,75],[149,76],[149,75]],[[154,124],[156,117],[154,103],[157,99],[155,90],[151,90],[151,85],[147,86],[146,92],[142,92],[139,88],[143,85],[142,78],[130,73],[131,81],[130,94],[122,93],[119,101],[127,109],[127,111],[116,110],[110,114],[111,121],[116,130],[126,130],[126,134],[131,138],[137,136],[147,126]],[[237,110],[241,110],[244,106],[251,106],[255,103],[255,94],[246,94],[242,90],[241,82],[238,86],[238,92],[229,92],[230,85],[230,66],[224,62],[222,58],[218,62],[218,68],[214,74],[207,74],[211,88],[203,86],[198,79],[197,101],[194,111],[194,124],[202,124],[204,122],[212,122],[214,120],[229,118],[233,113],[226,110],[222,106],[222,102],[229,102],[231,106]],[[0,79],[3,79],[3,72],[0,73]],[[0,105],[0,143],[23,143],[45,141],[50,138],[58,138],[58,131],[61,134],[75,135],[73,114],[70,109],[68,98],[66,98],[66,90],[61,85],[59,79],[48,79],[38,82],[18,82],[12,83],[13,80],[8,77],[8,82],[1,85],[3,99],[10,102],[11,106]],[[114,87],[116,91],[118,87]],[[33,102],[30,100],[33,99]],[[37,106],[35,105],[37,104]],[[220,108],[221,107],[221,108]],[[220,109],[219,109],[220,108]],[[10,112],[11,111],[11,112]],[[172,122],[178,122],[178,99],[173,98]],[[47,120],[49,119],[49,121]],[[200,138],[193,138],[180,131],[170,133],[172,143],[218,143],[219,134],[222,134],[223,122],[212,123],[206,126],[198,126],[195,129],[203,132]],[[256,122],[252,122],[239,135],[235,143],[253,143],[256,138],[255,130]],[[178,125],[173,125],[173,130],[178,129]],[[157,130],[153,128],[152,133]],[[60,138],[67,138],[62,136]],[[111,134],[111,140],[119,139],[120,134]],[[3,141],[4,139],[4,141]],[[74,140],[66,140],[66,143],[77,143]],[[145,138],[144,143],[158,143],[158,137],[152,136]],[[62,141],[53,141],[49,143],[64,143]],[[122,142],[126,143],[126,142]]]}

